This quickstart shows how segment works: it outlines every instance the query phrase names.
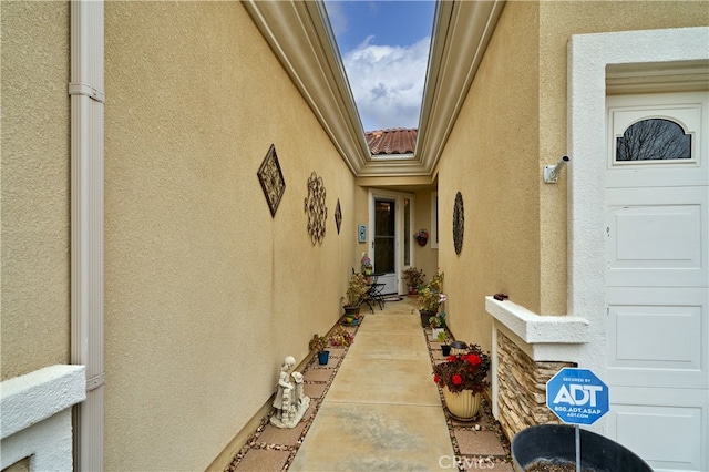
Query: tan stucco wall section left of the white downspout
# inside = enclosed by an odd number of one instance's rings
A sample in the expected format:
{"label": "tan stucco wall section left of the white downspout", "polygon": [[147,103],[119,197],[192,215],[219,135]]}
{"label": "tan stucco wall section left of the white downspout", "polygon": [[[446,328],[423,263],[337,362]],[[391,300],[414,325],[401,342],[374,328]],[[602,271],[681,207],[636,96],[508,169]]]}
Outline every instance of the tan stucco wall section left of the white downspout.
{"label": "tan stucco wall section left of the white downspout", "polygon": [[70,359],[69,2],[0,2],[2,380]]}

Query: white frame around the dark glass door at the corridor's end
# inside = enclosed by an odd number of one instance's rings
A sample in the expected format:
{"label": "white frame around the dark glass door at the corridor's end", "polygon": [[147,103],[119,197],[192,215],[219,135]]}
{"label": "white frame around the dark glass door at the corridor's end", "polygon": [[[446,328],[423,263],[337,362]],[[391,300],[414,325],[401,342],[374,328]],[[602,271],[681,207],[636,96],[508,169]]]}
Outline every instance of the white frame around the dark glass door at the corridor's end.
{"label": "white frame around the dark glass door at the corridor's end", "polygon": [[[394,220],[394,276],[397,277],[397,284],[395,284],[395,289],[397,289],[397,294],[404,294],[405,293],[405,287],[403,286],[403,279],[401,277],[401,273],[404,268],[403,266],[403,260],[404,260],[404,244],[403,244],[403,235],[404,235],[404,222],[403,222],[403,199],[404,198],[409,198],[409,202],[411,204],[411,218],[410,218],[410,223],[409,223],[409,234],[413,234],[413,227],[414,227],[414,196],[413,194],[410,193],[403,193],[403,192],[392,192],[392,191],[383,191],[383,189],[379,189],[379,188],[371,188],[369,191],[369,227],[371,228],[371,230],[369,232],[369,237],[367,240],[367,254],[370,257],[370,259],[374,260],[374,201],[377,198],[381,198],[381,199],[390,199],[390,201],[394,201],[395,202],[395,220]],[[413,261],[413,255],[414,255],[414,250],[413,250],[413,245],[409,245],[409,250],[410,250],[410,255],[409,255],[409,260],[411,260],[411,265],[414,264]],[[374,267],[374,270],[377,270],[377,268]]]}

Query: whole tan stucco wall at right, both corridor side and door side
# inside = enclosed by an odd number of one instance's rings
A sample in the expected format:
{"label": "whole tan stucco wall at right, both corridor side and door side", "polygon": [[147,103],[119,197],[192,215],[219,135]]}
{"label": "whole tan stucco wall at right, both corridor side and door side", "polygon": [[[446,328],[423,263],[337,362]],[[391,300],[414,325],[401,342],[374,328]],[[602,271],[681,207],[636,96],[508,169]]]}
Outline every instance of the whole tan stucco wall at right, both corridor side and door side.
{"label": "whole tan stucco wall at right, both corridor side and door side", "polygon": [[[500,291],[534,312],[566,314],[567,175],[547,185],[542,167],[567,153],[568,40],[709,24],[706,1],[640,3],[506,3],[440,164],[440,265],[459,338],[490,348],[483,297]],[[460,256],[449,229],[458,191],[465,203]]]}

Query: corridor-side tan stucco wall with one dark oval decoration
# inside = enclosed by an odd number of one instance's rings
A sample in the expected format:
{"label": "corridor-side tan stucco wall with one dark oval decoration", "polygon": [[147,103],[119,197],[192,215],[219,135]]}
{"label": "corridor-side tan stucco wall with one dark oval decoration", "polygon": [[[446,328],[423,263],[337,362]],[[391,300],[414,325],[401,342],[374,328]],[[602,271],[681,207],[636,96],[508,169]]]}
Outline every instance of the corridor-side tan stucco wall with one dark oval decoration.
{"label": "corridor-side tan stucco wall with one dark oval decoration", "polygon": [[[490,349],[485,295],[540,304],[537,9],[507,4],[439,165],[439,265],[453,334]],[[453,248],[461,192],[464,238]]]}

